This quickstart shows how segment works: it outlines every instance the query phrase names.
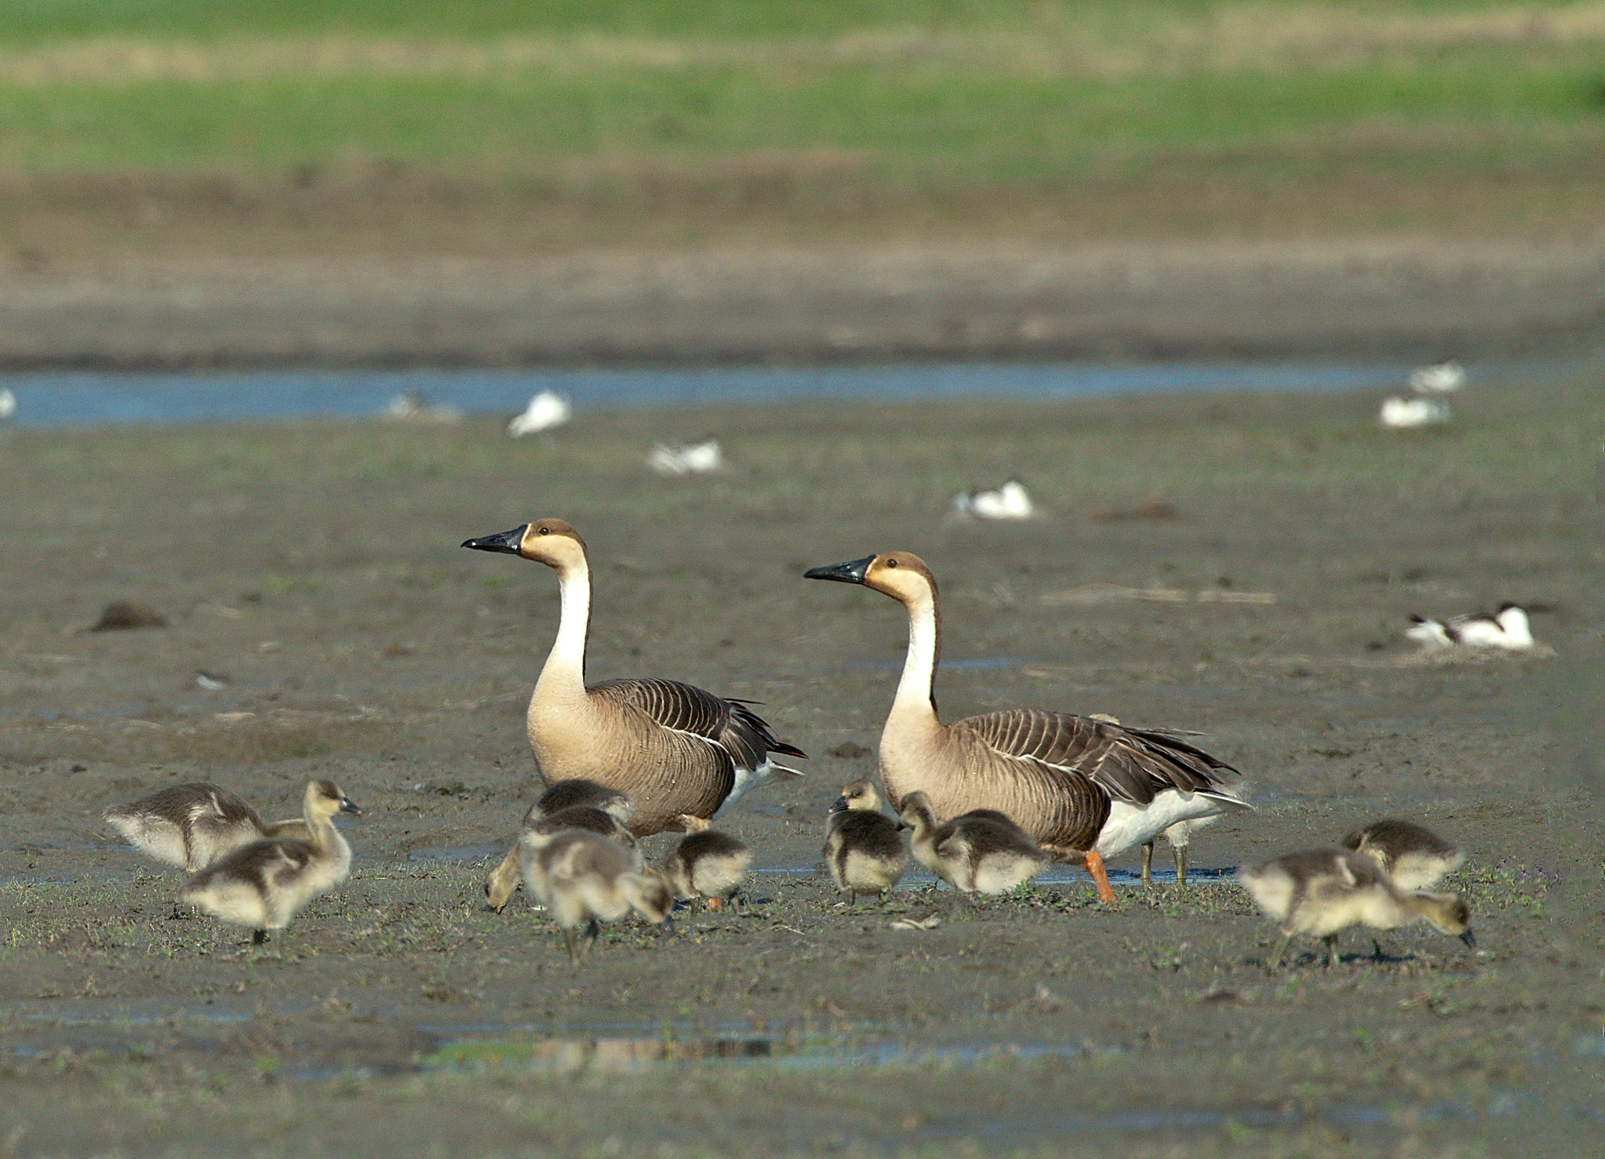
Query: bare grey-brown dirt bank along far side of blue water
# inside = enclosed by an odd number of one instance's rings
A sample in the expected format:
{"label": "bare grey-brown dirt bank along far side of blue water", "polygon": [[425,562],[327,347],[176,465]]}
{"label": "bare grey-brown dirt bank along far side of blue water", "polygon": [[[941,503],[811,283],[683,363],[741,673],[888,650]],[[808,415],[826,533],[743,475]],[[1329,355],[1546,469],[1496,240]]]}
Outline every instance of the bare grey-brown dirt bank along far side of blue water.
{"label": "bare grey-brown dirt bank along far side of blue water", "polygon": [[1497,358],[1605,345],[1599,244],[1159,241],[22,262],[0,368]]}

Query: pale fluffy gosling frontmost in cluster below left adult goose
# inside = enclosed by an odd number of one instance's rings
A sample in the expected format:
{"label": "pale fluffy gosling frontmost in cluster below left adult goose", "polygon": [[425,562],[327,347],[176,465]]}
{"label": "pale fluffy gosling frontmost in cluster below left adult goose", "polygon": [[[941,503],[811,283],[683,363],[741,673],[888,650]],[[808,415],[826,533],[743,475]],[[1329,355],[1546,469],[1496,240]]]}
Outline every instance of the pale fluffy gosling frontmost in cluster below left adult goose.
{"label": "pale fluffy gosling frontmost in cluster below left adult goose", "polygon": [[[526,835],[528,836],[528,835]],[[616,843],[571,828],[534,844],[518,843],[523,885],[546,904],[563,931],[570,965],[578,966],[602,933],[599,921],[616,921],[631,910],[672,933],[674,893],[658,870],[636,872]],[[575,931],[584,925],[581,944]]]}

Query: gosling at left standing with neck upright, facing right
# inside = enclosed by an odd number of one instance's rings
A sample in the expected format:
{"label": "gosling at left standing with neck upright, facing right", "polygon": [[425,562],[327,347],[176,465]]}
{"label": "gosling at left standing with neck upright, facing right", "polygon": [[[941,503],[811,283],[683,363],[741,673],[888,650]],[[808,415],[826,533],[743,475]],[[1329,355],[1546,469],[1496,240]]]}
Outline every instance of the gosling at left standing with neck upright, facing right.
{"label": "gosling at left standing with neck upright, facing right", "polygon": [[262,946],[270,929],[284,929],[307,902],[351,872],[351,846],[331,819],[363,811],[332,780],[313,780],[307,783],[302,812],[307,840],[276,836],[241,846],[189,878],[178,899],[223,921],[249,926],[252,944]]}

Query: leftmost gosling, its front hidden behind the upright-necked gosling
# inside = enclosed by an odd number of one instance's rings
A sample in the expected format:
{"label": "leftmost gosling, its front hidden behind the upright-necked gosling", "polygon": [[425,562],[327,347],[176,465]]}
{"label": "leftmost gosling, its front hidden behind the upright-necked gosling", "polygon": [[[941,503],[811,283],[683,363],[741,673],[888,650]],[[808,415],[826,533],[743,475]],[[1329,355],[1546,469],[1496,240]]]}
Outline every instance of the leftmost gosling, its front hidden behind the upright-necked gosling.
{"label": "leftmost gosling, its front hidden behind the upright-necked gosling", "polygon": [[239,796],[204,780],[114,804],[101,815],[140,852],[189,873],[252,841],[308,836],[300,817],[265,825]]}

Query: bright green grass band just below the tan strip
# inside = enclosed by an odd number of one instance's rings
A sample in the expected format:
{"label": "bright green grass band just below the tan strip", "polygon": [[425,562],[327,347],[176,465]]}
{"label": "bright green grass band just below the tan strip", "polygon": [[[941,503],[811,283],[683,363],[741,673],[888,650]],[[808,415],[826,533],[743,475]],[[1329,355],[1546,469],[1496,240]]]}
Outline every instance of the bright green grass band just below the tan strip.
{"label": "bright green grass band just below the tan strip", "polygon": [[1109,79],[822,63],[0,82],[0,167],[11,170],[470,162],[517,175],[533,196],[615,181],[626,199],[640,188],[618,164],[628,157],[684,165],[689,185],[705,159],[714,169],[703,180],[717,186],[753,180],[730,159],[778,154],[770,183],[782,188],[769,196],[783,197],[811,165],[820,185],[926,186],[1053,183],[1226,151],[1258,151],[1233,164],[1279,172],[1319,173],[1356,156],[1470,169],[1568,156],[1602,128],[1594,59],[1534,64],[1491,51],[1432,66]]}

